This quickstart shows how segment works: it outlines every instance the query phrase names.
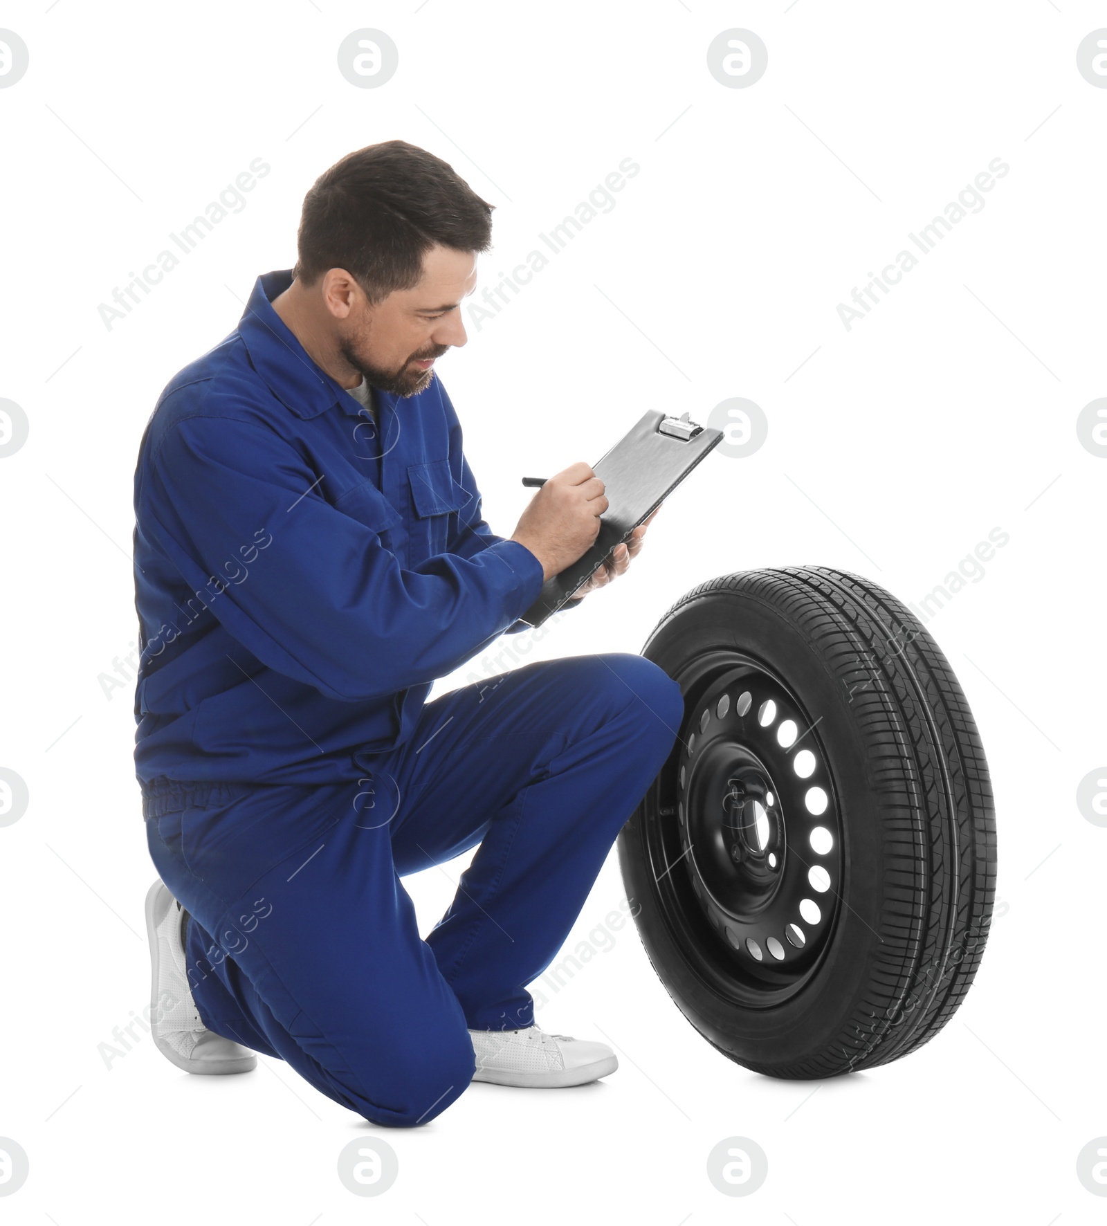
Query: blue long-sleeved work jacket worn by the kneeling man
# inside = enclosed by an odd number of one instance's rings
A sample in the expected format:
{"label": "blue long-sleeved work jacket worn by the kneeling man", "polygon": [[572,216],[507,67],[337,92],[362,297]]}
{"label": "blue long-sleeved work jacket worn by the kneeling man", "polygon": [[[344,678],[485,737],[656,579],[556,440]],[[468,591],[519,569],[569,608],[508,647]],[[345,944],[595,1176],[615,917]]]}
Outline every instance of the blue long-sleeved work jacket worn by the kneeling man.
{"label": "blue long-sleeved work jacket worn by the kneeling man", "polygon": [[165,387],[135,472],[135,763],[153,779],[356,780],[432,683],[525,629],[542,565],[495,536],[435,375],[374,390],[308,357],[257,278]]}

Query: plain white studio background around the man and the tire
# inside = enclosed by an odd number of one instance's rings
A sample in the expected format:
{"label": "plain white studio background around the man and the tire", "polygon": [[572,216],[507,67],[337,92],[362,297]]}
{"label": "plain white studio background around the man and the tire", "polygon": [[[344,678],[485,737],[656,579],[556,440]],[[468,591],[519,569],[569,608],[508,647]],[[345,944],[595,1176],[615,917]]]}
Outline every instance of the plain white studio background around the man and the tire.
{"label": "plain white studio background around the man and the tire", "polygon": [[[0,7],[31,51],[0,89],[0,396],[29,419],[0,460],[0,765],[29,788],[0,829],[0,1135],[31,1159],[7,1220],[1101,1221],[1076,1155],[1107,1134],[1107,830],[1075,793],[1107,760],[1107,461],[1076,417],[1107,394],[1107,89],[1076,47],[1107,7],[48,4]],[[380,88],[337,70],[365,26],[400,50]],[[732,27],[769,49],[748,88],[707,71]],[[626,927],[539,1010],[618,1045],[619,1070],[585,1089],[478,1085],[396,1130],[265,1058],[195,1078],[145,1037],[105,1068],[98,1045],[148,999],[132,687],[109,701],[98,682],[136,639],[139,440],[255,278],[292,266],[316,175],[392,137],[496,205],[483,283],[622,159],[641,167],[439,363],[498,532],[530,497],[522,473],[595,462],[646,408],[705,421],[742,396],[769,421],[755,455],[709,457],[630,574],[526,658],[639,651],[690,587],[759,566],[840,566],[917,602],[989,530],[1010,535],[929,624],[987,749],[999,901],[967,1002],[918,1053],[823,1084],[760,1078],[689,1027]],[[256,157],[272,170],[242,212],[108,330],[98,304]],[[837,304],[997,157],[1010,172],[986,206],[847,331]],[[424,932],[462,867],[407,879]],[[622,896],[613,853],[566,951]],[[367,1133],[400,1161],[373,1200],[336,1176]],[[732,1135],[769,1160],[743,1200],[706,1177]]]}

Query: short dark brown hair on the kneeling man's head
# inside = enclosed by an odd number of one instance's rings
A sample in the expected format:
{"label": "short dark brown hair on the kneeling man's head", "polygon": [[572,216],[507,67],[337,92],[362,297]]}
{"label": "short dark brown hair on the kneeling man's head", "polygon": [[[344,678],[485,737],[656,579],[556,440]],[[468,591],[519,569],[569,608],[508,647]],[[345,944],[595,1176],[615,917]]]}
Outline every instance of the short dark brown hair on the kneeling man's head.
{"label": "short dark brown hair on the kneeling man's head", "polygon": [[304,196],[293,276],[313,286],[329,268],[346,268],[375,305],[418,284],[435,244],[487,251],[494,207],[417,145],[367,145],[324,170]]}

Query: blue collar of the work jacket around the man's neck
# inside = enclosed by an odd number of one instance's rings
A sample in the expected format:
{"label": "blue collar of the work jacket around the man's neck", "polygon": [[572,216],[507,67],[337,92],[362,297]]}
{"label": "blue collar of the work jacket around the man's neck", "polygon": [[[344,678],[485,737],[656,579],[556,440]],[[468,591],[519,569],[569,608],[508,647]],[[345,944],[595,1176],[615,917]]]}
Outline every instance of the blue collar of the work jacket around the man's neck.
{"label": "blue collar of the work jacket around the man's neck", "polygon": [[[319,417],[333,405],[357,417],[362,406],[310,357],[272,300],[292,284],[292,268],[265,272],[255,282],[238,331],[254,369],[268,390],[297,417]],[[375,398],[381,396],[373,390]]]}

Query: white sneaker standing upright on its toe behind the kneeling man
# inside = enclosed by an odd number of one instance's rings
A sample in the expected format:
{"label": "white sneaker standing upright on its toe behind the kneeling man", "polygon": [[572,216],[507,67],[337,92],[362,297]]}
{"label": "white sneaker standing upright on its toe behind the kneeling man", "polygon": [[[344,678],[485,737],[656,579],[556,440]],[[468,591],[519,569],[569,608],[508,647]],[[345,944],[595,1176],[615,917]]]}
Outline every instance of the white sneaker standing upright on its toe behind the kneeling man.
{"label": "white sneaker standing upright on its toe behind the kneeling man", "polygon": [[180,904],[161,881],[146,895],[152,984],[150,1032],[157,1049],[185,1073],[249,1073],[257,1057],[223,1038],[200,1020],[185,972],[184,916]]}

